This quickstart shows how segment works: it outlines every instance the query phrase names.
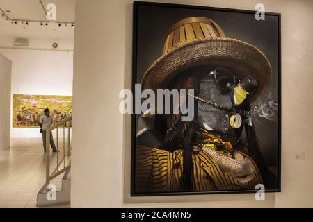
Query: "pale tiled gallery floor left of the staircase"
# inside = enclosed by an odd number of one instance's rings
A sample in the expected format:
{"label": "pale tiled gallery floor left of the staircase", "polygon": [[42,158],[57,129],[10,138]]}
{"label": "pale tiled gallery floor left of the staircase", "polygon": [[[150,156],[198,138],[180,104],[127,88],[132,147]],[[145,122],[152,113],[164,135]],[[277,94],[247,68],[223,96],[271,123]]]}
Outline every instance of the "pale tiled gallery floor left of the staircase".
{"label": "pale tiled gallery floor left of the staircase", "polygon": [[[56,158],[56,153],[51,155]],[[0,208],[36,207],[37,192],[45,183],[45,167],[41,139],[11,139],[10,148],[0,150]],[[57,191],[61,180],[62,175],[51,181]]]}

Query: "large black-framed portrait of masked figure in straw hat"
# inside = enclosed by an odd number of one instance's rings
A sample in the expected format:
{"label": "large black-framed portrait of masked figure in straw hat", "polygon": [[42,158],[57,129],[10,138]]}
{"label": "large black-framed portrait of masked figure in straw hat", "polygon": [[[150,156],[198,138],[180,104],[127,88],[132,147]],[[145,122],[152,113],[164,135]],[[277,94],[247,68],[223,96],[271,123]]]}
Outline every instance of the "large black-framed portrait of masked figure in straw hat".
{"label": "large black-framed portrait of masked figure in straw hat", "polygon": [[280,14],[134,2],[131,196],[280,191]]}

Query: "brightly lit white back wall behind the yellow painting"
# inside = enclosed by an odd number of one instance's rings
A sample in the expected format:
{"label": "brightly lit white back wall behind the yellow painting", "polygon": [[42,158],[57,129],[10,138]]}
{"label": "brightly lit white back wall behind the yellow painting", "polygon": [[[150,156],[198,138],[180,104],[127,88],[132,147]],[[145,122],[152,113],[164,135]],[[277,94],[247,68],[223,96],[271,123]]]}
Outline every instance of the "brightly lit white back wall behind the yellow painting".
{"label": "brightly lit white back wall behind the yellow painting", "polygon": [[[13,40],[0,40],[0,46],[11,46]],[[58,42],[59,49],[73,49],[71,40],[30,40],[30,48],[51,49]],[[41,137],[38,128],[13,128],[14,94],[72,96],[73,52],[0,49],[12,62],[11,137]]]}

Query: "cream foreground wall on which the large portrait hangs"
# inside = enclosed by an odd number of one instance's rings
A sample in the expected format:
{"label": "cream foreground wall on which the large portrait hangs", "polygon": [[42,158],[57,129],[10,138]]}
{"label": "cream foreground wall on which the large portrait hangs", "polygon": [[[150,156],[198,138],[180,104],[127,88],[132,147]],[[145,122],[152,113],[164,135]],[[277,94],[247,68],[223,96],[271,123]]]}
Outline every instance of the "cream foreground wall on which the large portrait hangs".
{"label": "cream foreground wall on which the large portrait hangs", "polygon": [[[282,13],[282,192],[266,201],[254,194],[130,197],[131,121],[118,112],[118,93],[131,87],[131,2],[76,4],[72,207],[313,207],[312,1],[262,1]],[[168,2],[248,10],[259,3]],[[295,160],[299,151],[305,160]]]}

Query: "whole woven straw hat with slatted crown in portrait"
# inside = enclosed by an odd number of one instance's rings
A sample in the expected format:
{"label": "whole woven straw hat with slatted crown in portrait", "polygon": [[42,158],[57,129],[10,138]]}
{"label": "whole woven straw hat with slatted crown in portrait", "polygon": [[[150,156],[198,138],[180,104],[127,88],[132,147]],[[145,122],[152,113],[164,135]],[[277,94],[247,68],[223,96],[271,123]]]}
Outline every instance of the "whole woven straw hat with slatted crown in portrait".
{"label": "whole woven straw hat with slatted crown in portrait", "polygon": [[141,85],[155,92],[166,89],[172,78],[197,65],[227,67],[241,78],[252,75],[258,83],[252,101],[264,92],[271,79],[270,62],[257,47],[225,37],[222,28],[211,19],[188,17],[170,27],[163,55],[147,69]]}

